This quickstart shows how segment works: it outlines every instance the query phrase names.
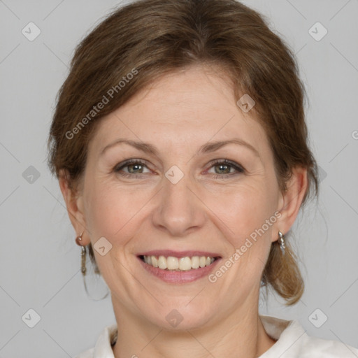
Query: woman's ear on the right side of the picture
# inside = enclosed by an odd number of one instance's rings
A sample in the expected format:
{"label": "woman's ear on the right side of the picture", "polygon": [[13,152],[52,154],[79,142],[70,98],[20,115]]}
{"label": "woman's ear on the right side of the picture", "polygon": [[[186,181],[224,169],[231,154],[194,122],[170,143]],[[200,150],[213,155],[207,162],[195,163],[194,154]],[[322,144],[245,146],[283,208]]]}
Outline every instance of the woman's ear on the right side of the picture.
{"label": "woman's ear on the right side of the picture", "polygon": [[[287,182],[287,190],[280,194],[278,210],[281,216],[278,218],[276,228],[287,234],[299,214],[299,208],[308,187],[307,169],[298,166],[292,169],[292,176]],[[273,233],[272,241],[278,240],[277,233]]]}

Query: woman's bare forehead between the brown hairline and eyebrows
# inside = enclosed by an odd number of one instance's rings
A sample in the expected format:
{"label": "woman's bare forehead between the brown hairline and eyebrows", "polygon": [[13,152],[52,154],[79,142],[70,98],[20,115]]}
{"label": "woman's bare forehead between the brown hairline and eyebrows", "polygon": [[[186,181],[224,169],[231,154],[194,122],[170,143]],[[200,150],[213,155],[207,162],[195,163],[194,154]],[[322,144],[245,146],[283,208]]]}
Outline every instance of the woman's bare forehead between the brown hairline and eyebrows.
{"label": "woman's bare forehead between the brown hairline and eyebrows", "polygon": [[[101,120],[90,143],[105,147],[116,138],[160,146],[192,147],[208,141],[241,138],[258,151],[268,141],[253,113],[236,104],[233,85],[224,73],[194,67],[170,73],[135,94]],[[194,148],[192,148],[194,149]]]}

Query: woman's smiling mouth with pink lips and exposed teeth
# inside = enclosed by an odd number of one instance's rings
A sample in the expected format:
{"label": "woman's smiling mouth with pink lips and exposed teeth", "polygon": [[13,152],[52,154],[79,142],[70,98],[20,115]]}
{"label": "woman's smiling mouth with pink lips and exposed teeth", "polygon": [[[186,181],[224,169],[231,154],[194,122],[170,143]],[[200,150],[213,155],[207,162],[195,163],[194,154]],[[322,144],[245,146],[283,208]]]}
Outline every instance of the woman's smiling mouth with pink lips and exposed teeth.
{"label": "woman's smiling mouth with pink lips and exposed teeth", "polygon": [[187,283],[208,275],[221,257],[211,252],[145,252],[137,256],[143,268],[171,283]]}

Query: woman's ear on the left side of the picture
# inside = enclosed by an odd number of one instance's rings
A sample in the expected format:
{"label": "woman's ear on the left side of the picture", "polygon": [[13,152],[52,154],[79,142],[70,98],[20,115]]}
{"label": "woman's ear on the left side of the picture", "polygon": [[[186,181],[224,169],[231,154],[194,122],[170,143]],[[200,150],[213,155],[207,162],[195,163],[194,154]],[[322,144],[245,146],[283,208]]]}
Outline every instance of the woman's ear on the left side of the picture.
{"label": "woman's ear on the left side of the picture", "polygon": [[83,233],[82,242],[84,245],[90,243],[90,238],[86,231],[86,221],[83,212],[83,196],[80,191],[76,191],[69,185],[69,173],[63,169],[59,172],[59,188],[66,203],[67,213],[71,220],[76,236]]}

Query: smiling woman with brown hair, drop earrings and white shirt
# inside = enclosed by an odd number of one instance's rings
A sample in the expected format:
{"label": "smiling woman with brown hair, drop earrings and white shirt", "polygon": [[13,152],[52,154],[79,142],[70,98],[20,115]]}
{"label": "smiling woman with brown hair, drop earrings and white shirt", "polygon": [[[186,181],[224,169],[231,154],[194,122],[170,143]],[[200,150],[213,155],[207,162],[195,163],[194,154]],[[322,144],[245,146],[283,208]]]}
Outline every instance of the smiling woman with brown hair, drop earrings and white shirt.
{"label": "smiling woman with brown hair, drop earrings and white shirt", "polygon": [[83,255],[116,324],[87,357],[356,357],[259,315],[303,280],[287,243],[317,194],[292,52],[234,0],[146,0],[78,46],[50,129]]}

